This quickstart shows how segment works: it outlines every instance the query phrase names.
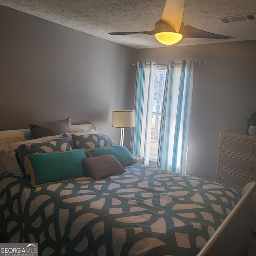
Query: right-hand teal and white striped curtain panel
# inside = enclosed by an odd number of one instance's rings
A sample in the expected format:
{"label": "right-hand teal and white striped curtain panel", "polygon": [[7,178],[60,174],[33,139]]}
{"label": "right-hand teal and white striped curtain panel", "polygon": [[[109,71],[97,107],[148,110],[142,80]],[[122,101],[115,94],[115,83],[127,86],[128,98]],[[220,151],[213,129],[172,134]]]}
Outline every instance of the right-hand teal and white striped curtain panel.
{"label": "right-hand teal and white striped curtain panel", "polygon": [[170,61],[162,106],[157,166],[186,173],[186,155],[193,87],[193,62]]}

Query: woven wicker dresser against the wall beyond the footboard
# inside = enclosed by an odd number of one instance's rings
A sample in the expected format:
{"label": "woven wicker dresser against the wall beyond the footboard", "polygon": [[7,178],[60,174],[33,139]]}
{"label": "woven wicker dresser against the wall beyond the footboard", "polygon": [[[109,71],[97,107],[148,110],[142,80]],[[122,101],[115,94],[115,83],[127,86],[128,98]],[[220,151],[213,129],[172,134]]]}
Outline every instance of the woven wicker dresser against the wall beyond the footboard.
{"label": "woven wicker dresser against the wall beyond the footboard", "polygon": [[256,136],[238,131],[220,132],[216,182],[241,194],[251,181],[256,181]]}

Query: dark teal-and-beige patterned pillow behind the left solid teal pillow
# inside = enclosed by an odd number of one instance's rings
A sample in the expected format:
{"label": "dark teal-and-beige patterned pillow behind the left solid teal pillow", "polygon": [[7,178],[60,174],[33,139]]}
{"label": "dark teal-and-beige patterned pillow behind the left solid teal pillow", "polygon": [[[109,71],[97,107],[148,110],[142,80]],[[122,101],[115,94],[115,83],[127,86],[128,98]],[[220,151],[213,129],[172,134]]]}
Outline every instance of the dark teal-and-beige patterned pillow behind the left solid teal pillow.
{"label": "dark teal-and-beige patterned pillow behind the left solid teal pillow", "polygon": [[34,153],[50,153],[58,151],[69,151],[71,149],[70,142],[67,134],[62,134],[59,138],[49,140],[46,142],[38,143],[26,143],[21,144],[15,149],[16,159],[20,166],[20,169],[24,175],[30,175],[30,172],[26,170],[24,166],[24,157],[28,154]]}

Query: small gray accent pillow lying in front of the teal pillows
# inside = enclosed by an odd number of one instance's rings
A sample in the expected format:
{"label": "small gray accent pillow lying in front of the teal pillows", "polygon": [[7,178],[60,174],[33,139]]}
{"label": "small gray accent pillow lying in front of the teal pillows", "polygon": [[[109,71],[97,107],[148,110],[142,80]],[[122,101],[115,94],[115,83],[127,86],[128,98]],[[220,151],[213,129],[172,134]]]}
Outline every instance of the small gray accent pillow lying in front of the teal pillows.
{"label": "small gray accent pillow lying in front of the teal pillows", "polygon": [[82,163],[94,180],[125,172],[120,162],[112,154],[82,158]]}

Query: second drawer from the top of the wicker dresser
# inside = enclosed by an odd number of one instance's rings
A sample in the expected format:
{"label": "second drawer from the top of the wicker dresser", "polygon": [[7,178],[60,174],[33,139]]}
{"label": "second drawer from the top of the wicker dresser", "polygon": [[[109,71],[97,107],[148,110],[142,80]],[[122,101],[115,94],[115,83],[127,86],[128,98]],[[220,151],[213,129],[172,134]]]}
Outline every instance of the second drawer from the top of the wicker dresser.
{"label": "second drawer from the top of the wicker dresser", "polygon": [[252,160],[246,160],[243,158],[222,156],[220,167],[236,170],[239,172],[248,172],[250,174],[256,174],[256,162]]}

